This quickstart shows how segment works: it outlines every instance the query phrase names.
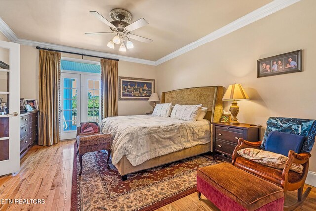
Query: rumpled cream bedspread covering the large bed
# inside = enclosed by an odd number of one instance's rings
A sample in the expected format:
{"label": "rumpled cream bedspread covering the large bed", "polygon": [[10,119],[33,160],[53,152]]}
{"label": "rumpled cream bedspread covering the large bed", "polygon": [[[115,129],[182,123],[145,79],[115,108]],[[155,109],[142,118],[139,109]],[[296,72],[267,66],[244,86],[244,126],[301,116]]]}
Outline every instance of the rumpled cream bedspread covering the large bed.
{"label": "rumpled cream bedspread covering the large bed", "polygon": [[210,126],[211,123],[205,119],[190,122],[153,115],[108,117],[100,123],[101,132],[114,137],[112,163],[117,164],[126,155],[133,166],[184,148],[209,143]]}

